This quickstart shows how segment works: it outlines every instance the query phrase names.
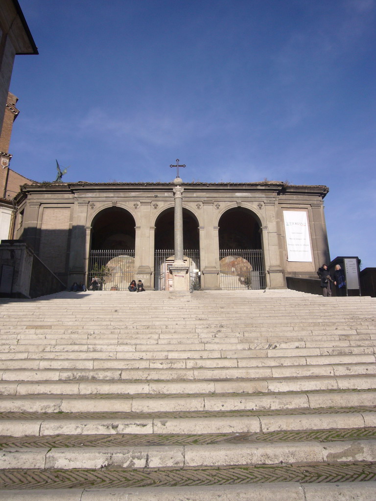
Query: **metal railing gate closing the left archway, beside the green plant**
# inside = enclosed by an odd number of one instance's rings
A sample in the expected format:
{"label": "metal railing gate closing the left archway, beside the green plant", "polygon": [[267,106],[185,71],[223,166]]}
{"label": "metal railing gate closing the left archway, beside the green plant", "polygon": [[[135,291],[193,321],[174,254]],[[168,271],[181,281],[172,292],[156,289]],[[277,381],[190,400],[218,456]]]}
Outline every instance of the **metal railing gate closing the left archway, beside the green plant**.
{"label": "metal railing gate closing the left archway, beside the green plant", "polygon": [[92,250],[89,257],[88,289],[97,277],[100,290],[125,291],[134,279],[134,250]]}

